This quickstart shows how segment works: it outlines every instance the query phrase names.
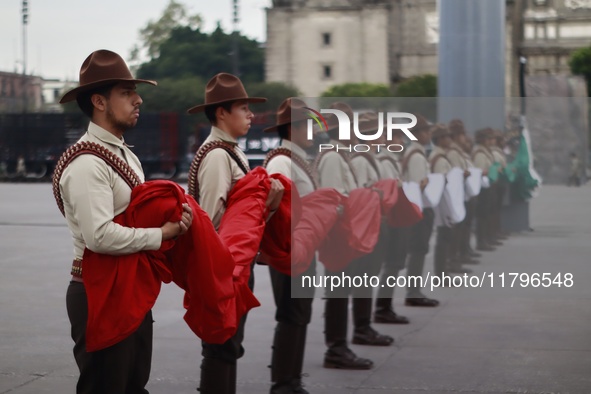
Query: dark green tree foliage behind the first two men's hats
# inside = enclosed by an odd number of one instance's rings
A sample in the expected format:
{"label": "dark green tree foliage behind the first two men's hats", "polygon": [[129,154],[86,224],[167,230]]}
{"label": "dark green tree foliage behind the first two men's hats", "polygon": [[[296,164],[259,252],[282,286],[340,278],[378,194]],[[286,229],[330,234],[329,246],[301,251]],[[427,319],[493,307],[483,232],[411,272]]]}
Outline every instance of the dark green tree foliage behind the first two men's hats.
{"label": "dark green tree foliage behind the first two men's hats", "polygon": [[[264,75],[264,50],[258,42],[238,36],[240,78],[243,82],[261,82]],[[232,40],[218,26],[211,34],[189,26],[176,27],[159,46],[158,57],[140,65],[138,78],[162,79],[201,77],[209,80],[220,72],[232,72]]]}

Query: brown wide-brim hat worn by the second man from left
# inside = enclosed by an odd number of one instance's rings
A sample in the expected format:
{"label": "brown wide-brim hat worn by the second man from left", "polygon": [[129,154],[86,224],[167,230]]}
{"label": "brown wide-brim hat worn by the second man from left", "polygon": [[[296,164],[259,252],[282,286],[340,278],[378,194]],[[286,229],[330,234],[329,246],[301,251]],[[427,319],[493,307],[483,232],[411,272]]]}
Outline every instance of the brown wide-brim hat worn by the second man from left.
{"label": "brown wide-brim hat worn by the second man from left", "polygon": [[264,103],[264,97],[248,97],[240,78],[228,73],[219,73],[207,82],[205,86],[205,103],[187,110],[190,114],[202,112],[210,105],[230,103],[232,101],[247,101],[249,103]]}

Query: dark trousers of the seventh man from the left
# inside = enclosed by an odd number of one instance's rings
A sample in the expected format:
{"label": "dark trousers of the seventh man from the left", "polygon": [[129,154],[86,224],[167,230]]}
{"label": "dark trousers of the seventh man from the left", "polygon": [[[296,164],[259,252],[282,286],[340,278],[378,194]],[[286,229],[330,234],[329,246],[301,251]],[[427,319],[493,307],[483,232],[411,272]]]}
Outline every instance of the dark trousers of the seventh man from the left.
{"label": "dark trousers of the seventh man from the left", "polygon": [[425,256],[429,253],[429,239],[433,232],[433,220],[435,214],[432,208],[423,210],[423,219],[410,228],[410,238],[408,240],[408,262],[406,269],[406,297],[424,298],[421,292],[420,281],[409,279],[409,277],[423,276],[425,266]]}

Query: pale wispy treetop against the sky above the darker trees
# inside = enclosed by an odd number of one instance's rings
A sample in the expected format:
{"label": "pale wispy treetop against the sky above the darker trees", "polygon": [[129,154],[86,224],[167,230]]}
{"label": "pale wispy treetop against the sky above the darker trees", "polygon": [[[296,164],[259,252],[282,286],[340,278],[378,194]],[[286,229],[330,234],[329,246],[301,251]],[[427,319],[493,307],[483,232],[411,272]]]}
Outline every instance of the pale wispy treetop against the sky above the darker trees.
{"label": "pale wispy treetop against the sky above the darker trees", "polygon": [[170,0],[162,16],[157,21],[150,20],[146,27],[140,30],[141,44],[134,46],[131,59],[139,60],[141,50],[145,50],[150,58],[158,57],[160,46],[168,40],[172,30],[179,26],[193,29],[201,27],[203,20],[199,14],[190,15],[187,7],[175,0]]}

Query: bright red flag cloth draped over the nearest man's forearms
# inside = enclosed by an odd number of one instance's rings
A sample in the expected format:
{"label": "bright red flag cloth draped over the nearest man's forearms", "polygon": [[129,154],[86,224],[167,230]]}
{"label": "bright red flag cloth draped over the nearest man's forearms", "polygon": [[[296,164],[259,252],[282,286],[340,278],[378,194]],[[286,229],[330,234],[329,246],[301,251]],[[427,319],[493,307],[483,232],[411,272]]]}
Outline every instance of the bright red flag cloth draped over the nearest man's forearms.
{"label": "bright red flag cloth draped over the nearest man's forearms", "polygon": [[[252,201],[245,204],[229,199],[226,214],[245,213],[248,219],[242,218],[240,223],[247,229],[260,226],[261,220],[264,226],[268,179],[256,172],[248,174],[232,192],[239,195],[241,190],[248,190]],[[85,250],[82,264],[88,297],[87,351],[112,346],[133,333],[154,306],[161,282],[174,280],[186,291],[185,321],[210,343],[229,339],[244,313],[260,305],[248,289],[248,277],[233,278],[236,249],[246,248],[236,253],[242,259],[240,263],[249,257],[252,261],[260,236],[257,240],[255,232],[250,245],[229,245],[235,239],[233,234],[248,231],[244,227],[232,231],[226,225],[223,235],[218,236],[207,214],[176,183],[150,181],[135,187],[129,207],[114,221],[127,227],[160,227],[167,221],[179,221],[185,202],[193,210],[193,224],[178,240],[162,242],[158,251],[113,256]]]}

